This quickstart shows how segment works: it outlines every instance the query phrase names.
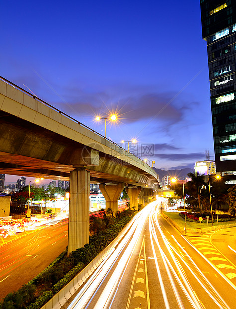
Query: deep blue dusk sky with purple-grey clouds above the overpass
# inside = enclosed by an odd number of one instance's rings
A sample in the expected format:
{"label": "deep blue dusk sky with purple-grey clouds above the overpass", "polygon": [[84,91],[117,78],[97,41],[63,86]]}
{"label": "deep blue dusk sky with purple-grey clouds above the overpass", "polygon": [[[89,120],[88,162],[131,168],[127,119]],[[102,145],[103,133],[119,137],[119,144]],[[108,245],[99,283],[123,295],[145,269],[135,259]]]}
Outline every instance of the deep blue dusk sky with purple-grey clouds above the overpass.
{"label": "deep blue dusk sky with purple-grey clouds above the overpass", "polygon": [[129,149],[156,168],[194,168],[205,150],[214,160],[200,0],[12,0],[0,11],[2,77],[102,135],[95,117],[116,113],[107,138],[136,138]]}

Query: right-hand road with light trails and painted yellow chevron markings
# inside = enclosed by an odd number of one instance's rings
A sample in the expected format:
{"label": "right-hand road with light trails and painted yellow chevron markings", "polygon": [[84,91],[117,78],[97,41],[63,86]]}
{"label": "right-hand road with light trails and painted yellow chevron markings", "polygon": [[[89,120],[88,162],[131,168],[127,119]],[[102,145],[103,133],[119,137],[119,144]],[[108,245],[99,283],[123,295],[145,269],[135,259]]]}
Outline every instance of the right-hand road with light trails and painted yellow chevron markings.
{"label": "right-hand road with light trails and painted yellow chevron markings", "polygon": [[63,309],[236,308],[236,267],[213,246],[214,233],[182,236],[160,216],[161,201],[139,212]]}

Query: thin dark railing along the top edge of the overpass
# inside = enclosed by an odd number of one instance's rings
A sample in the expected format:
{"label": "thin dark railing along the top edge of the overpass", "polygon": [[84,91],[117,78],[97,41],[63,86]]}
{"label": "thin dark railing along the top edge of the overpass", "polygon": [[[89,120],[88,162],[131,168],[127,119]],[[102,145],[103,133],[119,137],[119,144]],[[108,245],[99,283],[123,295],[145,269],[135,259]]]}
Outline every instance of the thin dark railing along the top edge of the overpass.
{"label": "thin dark railing along the top edge of the overpass", "polygon": [[[52,106],[51,104],[49,104],[49,103],[43,101],[42,99],[40,99],[40,98],[37,97],[36,95],[34,95],[34,94],[28,92],[27,90],[24,90],[23,88],[17,86],[16,84],[10,82],[9,80],[7,80],[6,78],[4,78],[4,77],[2,77],[2,76],[0,76],[0,79],[1,79],[3,82],[5,82],[5,83],[11,85],[12,87],[17,88],[18,90],[20,90],[20,91],[26,93],[27,95],[31,96],[31,97],[34,98],[35,100],[38,100],[38,101],[40,101],[41,103],[47,105],[48,107],[50,107],[50,108],[53,109],[54,111],[58,112],[59,114],[61,114],[61,115],[65,116],[65,117],[71,119],[72,121],[78,123],[79,125],[83,126],[84,128],[86,128],[86,129],[92,131],[93,133],[95,133],[95,134],[101,136],[102,138],[104,138],[105,140],[107,140],[107,141],[113,143],[114,145],[118,146],[120,149],[124,150],[124,151],[127,152],[128,154],[132,154],[132,153],[130,153],[129,151],[127,151],[125,148],[123,148],[122,146],[118,145],[117,143],[113,142],[112,140],[108,139],[107,137],[103,136],[102,134],[100,134],[100,133],[94,131],[93,129],[89,128],[88,126],[82,124],[81,122],[79,122],[79,121],[76,120],[75,118],[73,118],[73,117],[67,115],[66,113],[60,111],[59,109],[57,109],[56,107]],[[139,160],[141,160],[141,161],[142,161],[144,164],[146,164],[148,167],[152,168],[151,166],[149,166],[149,165],[147,164],[147,162],[143,161],[142,159],[140,159],[140,158],[139,158],[138,156],[136,156],[135,154],[132,154],[132,155],[135,156],[136,158],[138,158]],[[152,169],[152,170],[153,170],[153,169]],[[154,170],[153,170],[153,171],[154,171]],[[154,171],[154,172],[155,172],[155,171]]]}

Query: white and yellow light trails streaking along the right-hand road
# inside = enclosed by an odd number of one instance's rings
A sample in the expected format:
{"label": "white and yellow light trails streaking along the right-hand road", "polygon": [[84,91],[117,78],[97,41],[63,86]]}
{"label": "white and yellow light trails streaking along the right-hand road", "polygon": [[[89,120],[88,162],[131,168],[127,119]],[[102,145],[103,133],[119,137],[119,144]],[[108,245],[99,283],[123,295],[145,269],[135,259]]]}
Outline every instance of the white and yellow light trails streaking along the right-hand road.
{"label": "white and yellow light trails streaking along the right-hand road", "polygon": [[[162,206],[166,206],[165,200],[163,199]],[[154,259],[155,261],[154,268],[157,272],[155,286],[160,286],[162,296],[159,301],[160,304],[162,304],[161,308],[206,309],[209,308],[209,301],[211,301],[211,306],[214,308],[230,309],[219,292],[214,288],[213,284],[211,284],[193,258],[187,253],[185,248],[183,248],[169,232],[169,239],[165,236],[158,222],[158,215],[160,215],[159,207],[160,203],[158,203],[158,201],[152,202],[133,218],[132,224],[130,223],[128,226],[125,236],[118,245],[111,250],[108,256],[85,282],[77,296],[67,307],[68,309],[111,309],[113,306],[116,306],[116,295],[119,291],[120,283],[133,252],[137,249],[140,235],[145,229],[144,223],[147,222],[147,219],[149,222],[150,250],[152,250],[153,254],[153,257],[148,258]],[[191,243],[187,243],[191,246]],[[138,247],[138,260],[143,244],[144,240],[141,245],[138,245],[140,246]],[[193,246],[191,247],[194,248]],[[196,248],[194,249],[196,250]],[[203,258],[205,257],[203,256]],[[138,261],[135,264],[137,269]],[[145,269],[146,271],[148,270],[148,265],[146,264]],[[217,269],[215,270],[218,271]],[[126,309],[132,308],[131,301],[135,274],[136,273],[134,273],[132,277],[132,285],[127,303],[124,305]],[[168,280],[166,280],[166,278],[168,278]],[[152,300],[148,303],[147,298],[149,297],[149,292],[147,276],[146,284],[147,291],[145,301],[147,302],[147,306],[149,306],[149,308],[151,308],[150,306],[159,308],[159,303],[153,305],[151,303]],[[198,296],[198,293],[200,293],[201,297]],[[206,299],[204,296],[208,296],[209,298]],[[203,302],[205,302],[206,305]]]}

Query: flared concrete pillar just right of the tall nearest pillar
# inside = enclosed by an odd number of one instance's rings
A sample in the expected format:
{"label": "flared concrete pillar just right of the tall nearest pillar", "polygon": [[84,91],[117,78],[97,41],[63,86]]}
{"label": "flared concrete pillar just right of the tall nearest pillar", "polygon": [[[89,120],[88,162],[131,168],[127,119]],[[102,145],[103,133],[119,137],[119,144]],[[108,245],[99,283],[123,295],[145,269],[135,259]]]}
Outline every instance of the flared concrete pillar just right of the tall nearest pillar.
{"label": "flared concrete pillar just right of the tall nearest pillar", "polygon": [[114,215],[118,211],[118,199],[123,192],[124,183],[117,185],[105,185],[101,183],[99,189],[106,200],[106,209],[111,208]]}

